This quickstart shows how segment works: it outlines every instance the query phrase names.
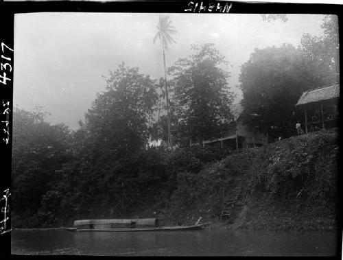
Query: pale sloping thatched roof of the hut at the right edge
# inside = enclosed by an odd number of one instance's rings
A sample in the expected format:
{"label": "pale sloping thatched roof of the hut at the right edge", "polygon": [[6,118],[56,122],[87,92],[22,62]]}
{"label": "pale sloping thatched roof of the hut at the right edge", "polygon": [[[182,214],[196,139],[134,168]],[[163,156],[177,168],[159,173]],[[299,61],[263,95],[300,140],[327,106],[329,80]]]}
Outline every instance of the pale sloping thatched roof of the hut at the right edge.
{"label": "pale sloping thatched roof of the hut at the right edge", "polygon": [[333,86],[324,86],[322,88],[310,89],[303,92],[296,106],[305,105],[314,102],[320,102],[327,99],[340,97],[340,84]]}

